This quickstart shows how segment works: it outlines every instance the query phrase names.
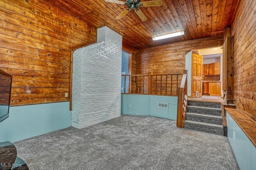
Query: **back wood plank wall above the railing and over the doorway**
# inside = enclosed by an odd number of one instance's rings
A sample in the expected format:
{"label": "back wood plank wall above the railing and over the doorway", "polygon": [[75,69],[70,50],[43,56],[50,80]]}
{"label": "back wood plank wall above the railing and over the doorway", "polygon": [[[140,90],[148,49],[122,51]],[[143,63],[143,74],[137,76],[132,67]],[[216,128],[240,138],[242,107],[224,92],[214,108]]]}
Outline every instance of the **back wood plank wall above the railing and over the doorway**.
{"label": "back wood plank wall above the railing and over the doorway", "polygon": [[137,74],[148,74],[149,71],[154,74],[183,73],[188,51],[222,46],[223,43],[223,36],[215,36],[139,49]]}

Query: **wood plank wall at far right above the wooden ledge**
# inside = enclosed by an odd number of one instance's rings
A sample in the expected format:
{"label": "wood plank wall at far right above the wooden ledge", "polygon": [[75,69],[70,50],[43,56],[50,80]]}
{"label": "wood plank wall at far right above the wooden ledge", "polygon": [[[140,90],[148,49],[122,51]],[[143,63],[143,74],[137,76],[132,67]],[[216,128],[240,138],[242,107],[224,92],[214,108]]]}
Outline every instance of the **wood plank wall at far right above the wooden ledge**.
{"label": "wood plank wall at far right above the wooden ledge", "polygon": [[256,1],[241,0],[234,35],[234,99],[236,108],[256,121]]}

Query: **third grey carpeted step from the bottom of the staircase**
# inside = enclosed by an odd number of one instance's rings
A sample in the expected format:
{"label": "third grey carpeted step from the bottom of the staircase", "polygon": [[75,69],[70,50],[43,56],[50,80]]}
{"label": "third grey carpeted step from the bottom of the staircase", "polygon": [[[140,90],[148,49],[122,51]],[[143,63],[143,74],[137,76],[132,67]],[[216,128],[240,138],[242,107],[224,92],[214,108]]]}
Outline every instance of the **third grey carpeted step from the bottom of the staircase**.
{"label": "third grey carpeted step from the bottom of the staircase", "polygon": [[200,106],[187,106],[188,113],[199,113],[204,115],[222,116],[220,108],[200,107]]}

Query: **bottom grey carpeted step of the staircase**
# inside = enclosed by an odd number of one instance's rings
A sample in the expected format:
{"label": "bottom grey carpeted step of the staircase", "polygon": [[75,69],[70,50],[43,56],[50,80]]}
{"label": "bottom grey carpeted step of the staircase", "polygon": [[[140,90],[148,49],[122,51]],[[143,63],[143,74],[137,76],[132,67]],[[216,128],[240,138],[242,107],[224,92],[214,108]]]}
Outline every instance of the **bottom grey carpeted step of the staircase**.
{"label": "bottom grey carpeted step of the staircase", "polygon": [[202,123],[195,121],[187,121],[184,122],[184,128],[197,130],[201,132],[207,132],[212,134],[218,134],[223,136],[223,126],[222,125],[214,125],[210,123]]}

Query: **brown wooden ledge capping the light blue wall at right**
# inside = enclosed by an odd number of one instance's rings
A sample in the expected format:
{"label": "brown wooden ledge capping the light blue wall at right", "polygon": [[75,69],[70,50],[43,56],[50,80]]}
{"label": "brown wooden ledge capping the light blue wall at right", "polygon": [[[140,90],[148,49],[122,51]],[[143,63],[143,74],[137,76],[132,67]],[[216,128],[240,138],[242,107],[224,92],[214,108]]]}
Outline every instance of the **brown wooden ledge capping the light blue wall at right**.
{"label": "brown wooden ledge capping the light blue wall at right", "polygon": [[238,126],[256,147],[256,122],[237,109],[225,108]]}

